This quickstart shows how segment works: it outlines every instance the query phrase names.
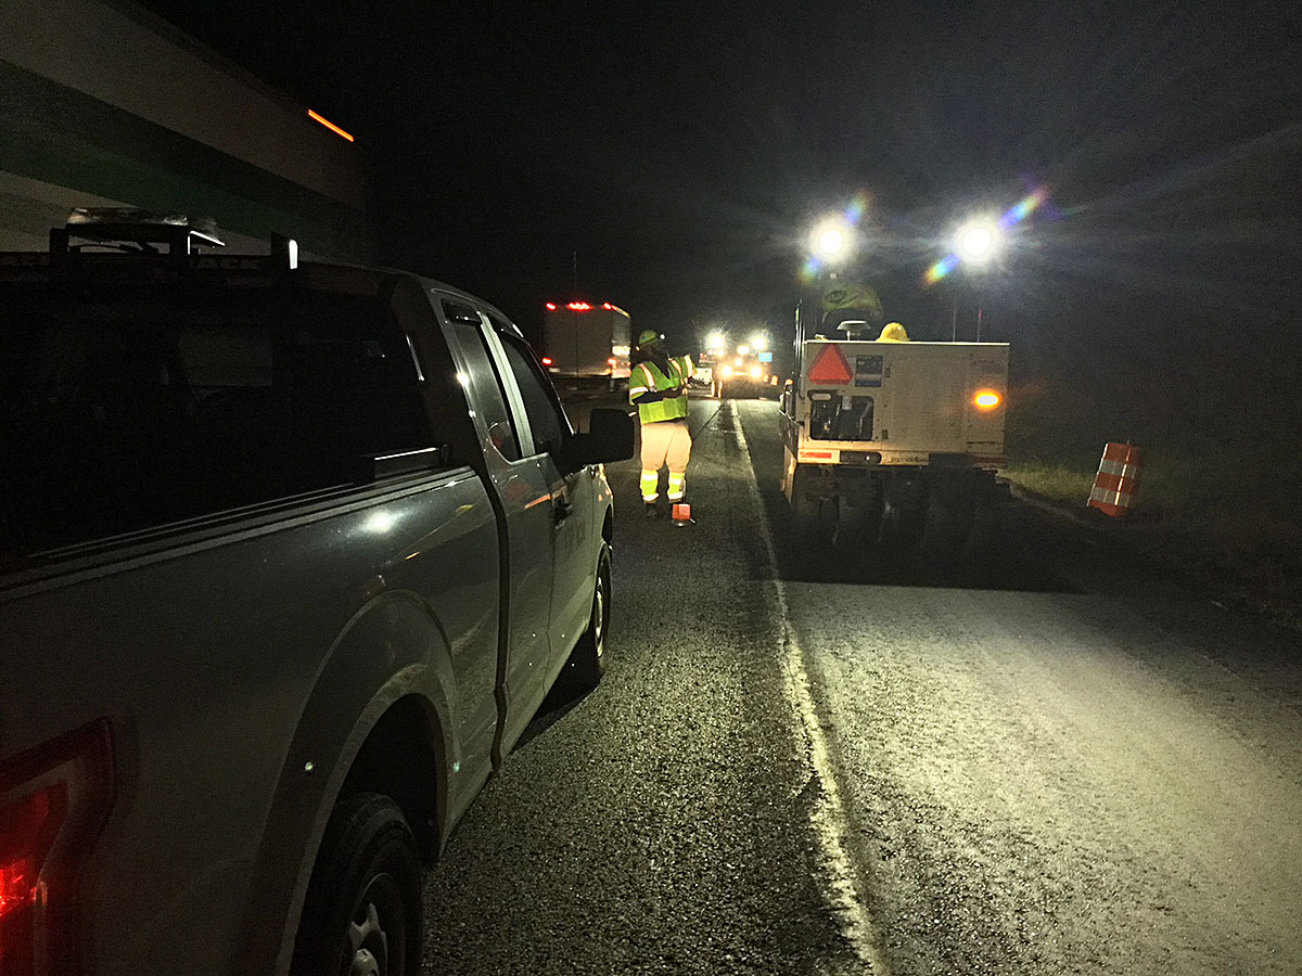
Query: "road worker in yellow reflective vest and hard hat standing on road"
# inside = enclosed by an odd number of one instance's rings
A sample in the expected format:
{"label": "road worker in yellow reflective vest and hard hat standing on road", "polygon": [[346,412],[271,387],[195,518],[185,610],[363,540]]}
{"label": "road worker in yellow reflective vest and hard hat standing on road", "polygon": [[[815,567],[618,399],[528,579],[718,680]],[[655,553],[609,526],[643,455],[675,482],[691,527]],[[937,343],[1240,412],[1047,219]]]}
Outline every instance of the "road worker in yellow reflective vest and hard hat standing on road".
{"label": "road worker in yellow reflective vest and hard hat standing on road", "polygon": [[659,514],[660,468],[669,467],[669,504],[682,501],[687,489],[687,379],[694,367],[690,355],[671,358],[664,336],[651,329],[638,333],[629,375],[629,402],[642,423],[642,501],[648,518]]}

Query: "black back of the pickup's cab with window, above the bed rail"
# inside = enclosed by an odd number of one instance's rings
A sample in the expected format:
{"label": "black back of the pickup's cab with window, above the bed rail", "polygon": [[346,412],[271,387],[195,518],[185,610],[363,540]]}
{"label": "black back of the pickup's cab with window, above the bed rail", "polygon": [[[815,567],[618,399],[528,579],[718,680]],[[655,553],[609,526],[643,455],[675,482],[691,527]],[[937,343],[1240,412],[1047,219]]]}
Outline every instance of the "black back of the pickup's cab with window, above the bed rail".
{"label": "black back of the pickup's cab with window, above the bed rail", "polygon": [[432,446],[376,298],[0,293],[0,544],[34,550],[365,479]]}

